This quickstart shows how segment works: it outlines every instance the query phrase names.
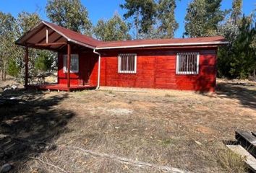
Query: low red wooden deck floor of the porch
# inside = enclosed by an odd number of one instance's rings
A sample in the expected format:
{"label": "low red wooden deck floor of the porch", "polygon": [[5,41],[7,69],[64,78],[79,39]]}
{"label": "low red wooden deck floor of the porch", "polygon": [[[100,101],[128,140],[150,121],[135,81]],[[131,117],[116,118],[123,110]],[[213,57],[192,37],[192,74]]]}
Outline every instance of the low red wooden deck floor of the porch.
{"label": "low red wooden deck floor of the porch", "polygon": [[80,91],[85,89],[96,89],[96,86],[89,85],[71,85],[68,89],[67,84],[40,84],[40,85],[28,85],[31,89],[40,90],[56,90],[56,91]]}

